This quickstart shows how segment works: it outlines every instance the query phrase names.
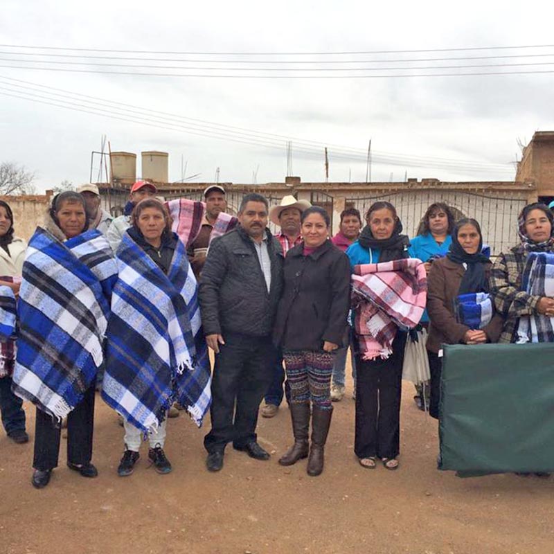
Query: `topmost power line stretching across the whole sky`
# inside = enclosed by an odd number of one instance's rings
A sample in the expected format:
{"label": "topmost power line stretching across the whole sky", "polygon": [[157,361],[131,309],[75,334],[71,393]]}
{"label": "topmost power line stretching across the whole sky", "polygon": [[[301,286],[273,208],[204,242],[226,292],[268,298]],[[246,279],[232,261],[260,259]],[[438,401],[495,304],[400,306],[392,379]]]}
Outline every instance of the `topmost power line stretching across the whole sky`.
{"label": "topmost power line stretching across the whole sky", "polygon": [[181,54],[181,55],[361,55],[361,54],[404,54],[422,52],[463,52],[485,50],[515,50],[528,48],[553,48],[554,44],[524,44],[522,46],[470,46],[461,48],[418,48],[411,50],[366,50],[337,52],[199,52],[199,51],[160,51],[160,50],[117,50],[115,48],[65,48],[62,46],[30,46],[26,44],[0,44],[0,48],[28,48],[33,50],[55,50],[72,52],[116,52],[141,54]]}

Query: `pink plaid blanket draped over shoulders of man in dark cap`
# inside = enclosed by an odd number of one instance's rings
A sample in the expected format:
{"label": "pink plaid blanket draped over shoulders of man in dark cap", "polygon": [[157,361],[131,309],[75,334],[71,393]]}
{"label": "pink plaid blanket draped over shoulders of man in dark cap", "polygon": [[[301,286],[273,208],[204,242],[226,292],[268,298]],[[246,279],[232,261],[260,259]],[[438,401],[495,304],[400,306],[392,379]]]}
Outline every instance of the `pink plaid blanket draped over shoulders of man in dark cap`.
{"label": "pink plaid blanket draped over shoulders of man in dark cap", "polygon": [[[188,248],[190,244],[195,242],[195,239],[202,227],[202,218],[206,211],[204,202],[195,202],[188,198],[179,198],[166,202],[169,215],[173,220],[171,229],[175,231],[181,241]],[[210,240],[224,235],[227,231],[231,231],[236,226],[238,220],[236,217],[228,213],[220,213],[213,226],[213,231],[210,235]]]}

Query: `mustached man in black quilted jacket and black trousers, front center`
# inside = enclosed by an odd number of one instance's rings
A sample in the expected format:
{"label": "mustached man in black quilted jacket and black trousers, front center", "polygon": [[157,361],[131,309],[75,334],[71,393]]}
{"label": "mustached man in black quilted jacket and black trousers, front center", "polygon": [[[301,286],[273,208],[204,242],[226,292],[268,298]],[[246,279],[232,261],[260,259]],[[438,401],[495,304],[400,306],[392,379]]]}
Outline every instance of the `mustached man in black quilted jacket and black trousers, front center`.
{"label": "mustached man in black quilted jacket and black trousers, front center", "polygon": [[[200,278],[202,325],[215,352],[212,429],[204,438],[210,471],[223,467],[227,443],[257,460],[258,408],[272,377],[271,332],[283,287],[283,253],[267,226],[267,200],[245,195],[240,226],[211,243]],[[236,407],[235,407],[236,404]]]}

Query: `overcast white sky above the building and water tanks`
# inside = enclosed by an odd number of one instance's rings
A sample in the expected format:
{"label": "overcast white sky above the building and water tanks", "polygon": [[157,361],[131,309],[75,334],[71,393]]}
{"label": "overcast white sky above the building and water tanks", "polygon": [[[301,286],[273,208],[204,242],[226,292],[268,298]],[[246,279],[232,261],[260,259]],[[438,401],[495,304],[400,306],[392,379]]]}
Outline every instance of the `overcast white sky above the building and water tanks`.
{"label": "overcast white sky above the building and water tanks", "polygon": [[[33,170],[38,190],[63,180],[79,184],[89,179],[91,151],[100,150],[105,134],[114,151],[168,152],[171,181],[181,179],[183,160],[186,176],[200,174],[199,181],[212,181],[219,167],[220,181],[250,183],[257,171],[257,182],[264,183],[283,181],[287,174],[289,139],[293,173],[303,181],[324,180],[324,145],[329,146],[330,180],[365,181],[364,150],[371,139],[373,181],[402,181],[406,172],[419,179],[513,179],[510,163],[519,152],[517,139],[526,141],[535,130],[554,129],[554,73],[357,79],[350,75],[554,71],[554,46],[544,47],[554,43],[553,15],[554,4],[547,1],[511,8],[505,1],[483,0],[4,0],[0,161]],[[543,47],[460,50],[499,46]],[[427,52],[415,52],[423,50]],[[337,52],[349,54],[328,54]],[[82,57],[91,55],[98,57]],[[253,60],[280,63],[244,63]],[[348,63],[282,63],[292,61]],[[487,67],[452,69],[481,64]],[[499,64],[522,65],[494,67]],[[220,69],[199,69],[208,66]],[[436,66],[449,69],[429,69]],[[264,71],[269,67],[280,71]],[[293,67],[303,71],[287,71]],[[305,71],[323,67],[373,69]],[[397,67],[412,69],[387,69]],[[52,71],[56,68],[72,71]],[[186,118],[204,122],[193,125],[200,134],[191,132],[193,122]]]}

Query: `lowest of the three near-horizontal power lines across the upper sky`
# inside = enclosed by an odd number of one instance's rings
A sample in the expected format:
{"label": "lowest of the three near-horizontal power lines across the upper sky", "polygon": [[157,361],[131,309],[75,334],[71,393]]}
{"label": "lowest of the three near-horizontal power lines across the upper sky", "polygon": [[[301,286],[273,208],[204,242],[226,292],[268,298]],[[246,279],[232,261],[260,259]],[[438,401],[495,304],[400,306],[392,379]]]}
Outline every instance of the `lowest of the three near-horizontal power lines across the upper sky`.
{"label": "lowest of the three near-horizontal power lines across the upper sky", "polygon": [[209,73],[145,73],[139,71],[103,71],[96,69],[66,69],[64,67],[25,67],[0,65],[5,69],[26,69],[27,71],[63,71],[64,73],[100,73],[103,75],[131,75],[140,77],[186,77],[206,79],[397,79],[414,77],[474,77],[483,75],[543,75],[554,70],[535,71],[479,71],[465,73],[411,73],[406,75],[213,75]]}

